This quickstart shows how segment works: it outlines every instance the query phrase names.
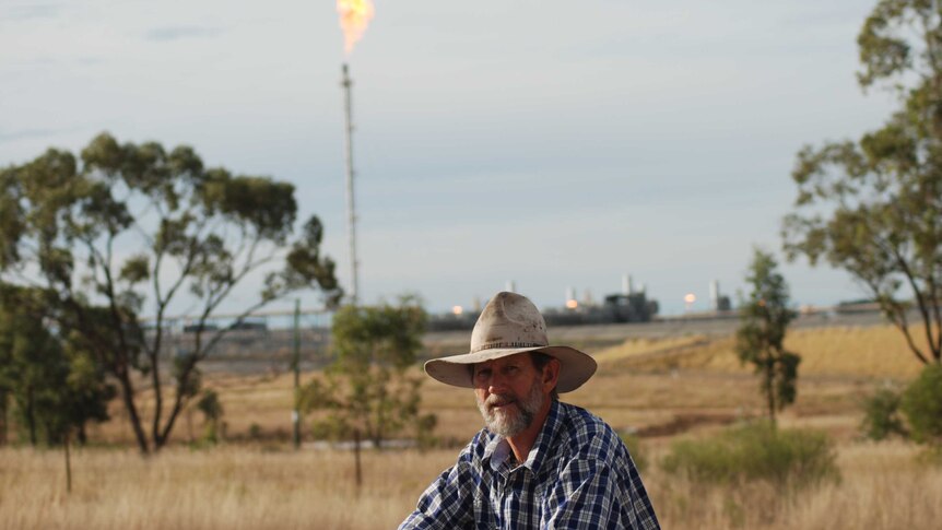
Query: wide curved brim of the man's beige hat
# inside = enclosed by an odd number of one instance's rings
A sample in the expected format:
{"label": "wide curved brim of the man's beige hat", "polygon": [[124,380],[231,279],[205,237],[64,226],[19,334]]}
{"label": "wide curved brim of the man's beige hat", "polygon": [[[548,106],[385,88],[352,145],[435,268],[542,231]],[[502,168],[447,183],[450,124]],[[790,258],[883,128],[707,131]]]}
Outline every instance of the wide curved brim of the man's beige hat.
{"label": "wide curved brim of the man's beige hat", "polygon": [[425,363],[425,373],[432,378],[455,387],[474,388],[471,370],[475,363],[493,361],[526,352],[540,352],[560,361],[560,380],[556,391],[572,392],[592,377],[598,365],[596,360],[575,348],[569,346],[533,346],[482,350],[462,355],[433,358]]}

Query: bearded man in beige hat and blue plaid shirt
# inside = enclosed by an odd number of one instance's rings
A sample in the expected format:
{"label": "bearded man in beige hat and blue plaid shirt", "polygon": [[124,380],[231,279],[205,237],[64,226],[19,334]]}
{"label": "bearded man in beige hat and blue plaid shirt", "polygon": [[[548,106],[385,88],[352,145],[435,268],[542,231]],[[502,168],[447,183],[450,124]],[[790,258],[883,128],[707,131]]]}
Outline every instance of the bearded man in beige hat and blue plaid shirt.
{"label": "bearded man in beige hat and blue plaid shirt", "polygon": [[619,435],[557,392],[596,372],[589,355],[551,346],[526,297],[498,293],[471,333],[471,352],[425,372],[473,388],[486,427],[422,494],[402,529],[659,529]]}

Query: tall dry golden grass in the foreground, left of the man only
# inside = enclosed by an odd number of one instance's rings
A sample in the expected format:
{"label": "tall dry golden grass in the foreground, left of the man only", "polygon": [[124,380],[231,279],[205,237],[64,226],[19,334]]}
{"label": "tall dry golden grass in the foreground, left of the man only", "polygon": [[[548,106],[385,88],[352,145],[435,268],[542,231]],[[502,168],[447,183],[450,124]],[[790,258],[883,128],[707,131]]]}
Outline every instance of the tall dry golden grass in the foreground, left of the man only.
{"label": "tall dry golden grass in the foreground, left of the man only", "polygon": [[424,487],[416,481],[444,466],[367,452],[356,498],[345,452],[176,448],[143,459],[84,450],[74,455],[71,494],[61,451],[4,450],[0,461],[0,528],[9,529],[388,528]]}

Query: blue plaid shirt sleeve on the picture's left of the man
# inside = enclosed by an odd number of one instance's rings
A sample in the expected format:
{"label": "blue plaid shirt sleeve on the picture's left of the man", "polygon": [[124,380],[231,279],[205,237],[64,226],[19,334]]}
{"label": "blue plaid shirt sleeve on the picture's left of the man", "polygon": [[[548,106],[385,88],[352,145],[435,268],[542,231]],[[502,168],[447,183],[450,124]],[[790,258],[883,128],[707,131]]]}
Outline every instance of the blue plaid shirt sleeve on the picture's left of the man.
{"label": "blue plaid shirt sleeve on the picture's left of the man", "polygon": [[445,470],[425,493],[399,530],[473,528],[474,481],[467,464],[458,462]]}

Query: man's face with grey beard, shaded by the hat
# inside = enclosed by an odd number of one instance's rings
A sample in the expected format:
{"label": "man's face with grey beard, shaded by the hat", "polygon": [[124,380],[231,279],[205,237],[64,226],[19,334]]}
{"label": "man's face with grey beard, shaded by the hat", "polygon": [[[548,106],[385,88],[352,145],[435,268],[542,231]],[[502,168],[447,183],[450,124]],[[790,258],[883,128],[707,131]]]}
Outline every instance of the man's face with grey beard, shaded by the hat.
{"label": "man's face with grey beard, shaded by the hat", "polygon": [[474,396],[492,433],[511,437],[533,423],[546,393],[528,353],[474,365]]}

